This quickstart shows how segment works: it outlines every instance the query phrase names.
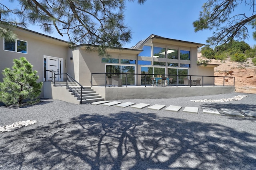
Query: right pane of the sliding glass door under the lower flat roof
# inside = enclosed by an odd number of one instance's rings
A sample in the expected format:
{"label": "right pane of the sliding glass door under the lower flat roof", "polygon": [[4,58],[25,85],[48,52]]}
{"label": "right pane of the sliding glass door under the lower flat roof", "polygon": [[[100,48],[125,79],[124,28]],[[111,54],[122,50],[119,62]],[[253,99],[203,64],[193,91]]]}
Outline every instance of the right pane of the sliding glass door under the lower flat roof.
{"label": "right pane of the sliding glass door under the lower flat roof", "polygon": [[126,85],[126,79],[127,79],[127,85],[135,85],[135,78],[134,78],[135,66],[124,66],[124,65],[122,65],[122,73],[132,73],[133,74],[133,75],[130,75],[130,74],[124,75],[124,74],[122,74],[122,83],[123,83],[123,85]]}

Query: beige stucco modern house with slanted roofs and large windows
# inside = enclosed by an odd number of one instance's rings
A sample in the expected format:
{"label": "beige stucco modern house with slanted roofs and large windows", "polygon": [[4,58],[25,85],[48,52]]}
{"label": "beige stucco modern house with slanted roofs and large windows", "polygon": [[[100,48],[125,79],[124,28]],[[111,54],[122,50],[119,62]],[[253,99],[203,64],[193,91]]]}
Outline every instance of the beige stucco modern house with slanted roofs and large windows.
{"label": "beige stucco modern house with slanted roofs and large windows", "polygon": [[[18,35],[15,43],[0,41],[3,47],[0,48],[0,70],[12,67],[14,58],[26,57],[34,66],[33,69],[38,71],[40,77],[38,81],[44,81],[40,97],[54,98],[52,87],[47,85],[49,82],[46,81],[50,78],[47,74],[48,70],[54,70],[56,74],[68,73],[82,86],[91,86],[93,83],[96,85],[94,89],[103,93],[103,98],[106,99],[108,88],[100,89],[100,86],[105,85],[105,81],[98,83],[92,73],[122,73],[120,76],[125,73],[137,74],[129,79],[129,86],[144,86],[150,84],[144,81],[147,77],[143,74],[152,74],[150,77],[156,75],[214,76],[214,67],[218,66],[197,64],[197,49],[204,44],[173,40],[153,34],[131,48],[108,49],[111,57],[100,57],[97,51],[87,50],[90,47],[88,44],[70,48],[69,42],[31,30],[17,28],[15,32]],[[2,78],[1,74],[1,81]],[[58,77],[57,81],[62,79],[63,77]],[[176,79],[173,83],[180,85],[183,81]],[[213,79],[204,77],[204,85],[214,85]],[[234,91],[234,88],[230,90]]]}

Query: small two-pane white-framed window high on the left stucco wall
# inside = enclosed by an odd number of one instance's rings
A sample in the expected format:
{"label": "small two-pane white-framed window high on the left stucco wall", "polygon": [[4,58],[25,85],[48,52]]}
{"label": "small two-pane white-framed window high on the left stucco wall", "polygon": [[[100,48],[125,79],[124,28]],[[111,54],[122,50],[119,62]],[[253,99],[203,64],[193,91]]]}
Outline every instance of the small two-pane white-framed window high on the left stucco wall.
{"label": "small two-pane white-framed window high on the left stucco wall", "polygon": [[18,53],[28,53],[27,42],[22,40],[7,41],[4,39],[4,50]]}

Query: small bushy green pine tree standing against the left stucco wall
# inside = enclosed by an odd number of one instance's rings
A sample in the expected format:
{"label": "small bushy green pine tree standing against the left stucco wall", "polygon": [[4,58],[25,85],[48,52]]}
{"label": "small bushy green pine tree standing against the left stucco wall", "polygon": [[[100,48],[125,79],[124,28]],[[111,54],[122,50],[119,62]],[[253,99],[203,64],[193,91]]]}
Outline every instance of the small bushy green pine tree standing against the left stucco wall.
{"label": "small bushy green pine tree standing against the left stucco wall", "polygon": [[42,82],[37,83],[39,78],[37,71],[33,71],[30,62],[25,57],[13,60],[12,69],[3,70],[4,79],[0,82],[0,101],[6,105],[21,106],[24,100],[34,101],[40,93]]}

